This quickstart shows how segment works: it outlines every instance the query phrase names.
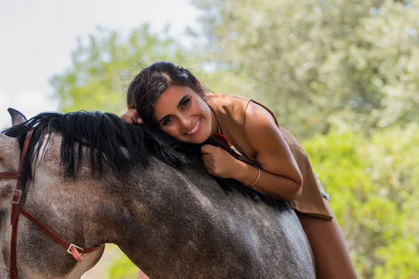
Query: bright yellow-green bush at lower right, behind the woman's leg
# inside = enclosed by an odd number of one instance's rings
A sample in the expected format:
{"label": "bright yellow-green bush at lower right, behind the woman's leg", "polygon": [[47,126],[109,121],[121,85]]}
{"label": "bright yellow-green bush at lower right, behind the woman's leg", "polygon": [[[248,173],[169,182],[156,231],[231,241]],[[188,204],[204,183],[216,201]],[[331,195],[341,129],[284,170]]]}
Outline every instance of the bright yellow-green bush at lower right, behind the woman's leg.
{"label": "bright yellow-green bush at lower right, behind the woman's leg", "polygon": [[317,135],[302,145],[360,278],[419,278],[419,129]]}

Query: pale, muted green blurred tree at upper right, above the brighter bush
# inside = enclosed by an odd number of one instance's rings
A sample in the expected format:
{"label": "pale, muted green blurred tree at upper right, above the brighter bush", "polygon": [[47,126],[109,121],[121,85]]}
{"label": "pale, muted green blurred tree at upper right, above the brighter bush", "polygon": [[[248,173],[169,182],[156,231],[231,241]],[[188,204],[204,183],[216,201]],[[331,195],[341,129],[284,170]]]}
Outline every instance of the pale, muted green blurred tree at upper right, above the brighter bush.
{"label": "pale, muted green blurred tree at upper right, above the brighter bush", "polygon": [[298,137],[418,119],[418,1],[402,2],[193,1],[213,63]]}

